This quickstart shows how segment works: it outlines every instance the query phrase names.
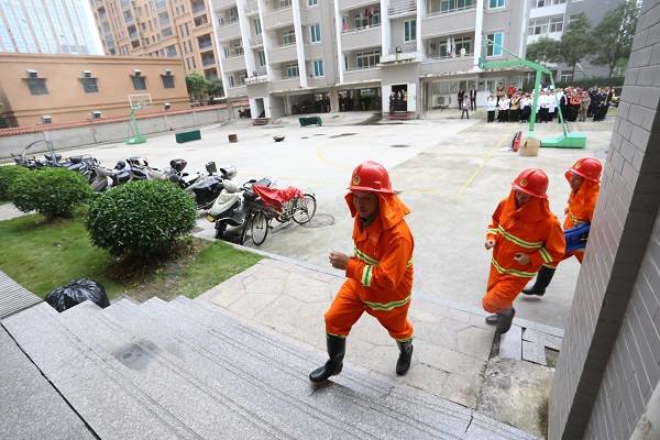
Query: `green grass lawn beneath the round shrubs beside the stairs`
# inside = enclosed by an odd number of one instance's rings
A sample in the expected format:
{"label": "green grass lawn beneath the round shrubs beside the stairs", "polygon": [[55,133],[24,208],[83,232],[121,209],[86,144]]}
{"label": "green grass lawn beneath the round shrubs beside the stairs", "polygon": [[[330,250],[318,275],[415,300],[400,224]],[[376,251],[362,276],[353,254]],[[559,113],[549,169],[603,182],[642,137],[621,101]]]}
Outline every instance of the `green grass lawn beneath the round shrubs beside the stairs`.
{"label": "green grass lawn beneath the round shrubs beside the stairs", "polygon": [[82,277],[101,283],[110,299],[195,297],[261,260],[223,242],[189,239],[176,257],[127,267],[91,245],[82,216],[53,223],[41,216],[0,221],[0,270],[42,298]]}

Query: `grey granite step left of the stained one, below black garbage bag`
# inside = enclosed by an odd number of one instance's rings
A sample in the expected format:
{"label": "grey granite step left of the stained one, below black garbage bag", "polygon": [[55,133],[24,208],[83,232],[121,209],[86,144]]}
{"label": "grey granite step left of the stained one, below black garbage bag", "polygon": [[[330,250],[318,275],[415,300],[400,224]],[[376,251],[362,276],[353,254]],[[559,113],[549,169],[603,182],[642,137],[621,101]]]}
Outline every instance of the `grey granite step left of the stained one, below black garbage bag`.
{"label": "grey granite step left of the stained one, below black garbage bag", "polygon": [[141,432],[157,439],[190,438],[183,436],[185,426],[108,369],[57,315],[42,302],[2,320],[2,324],[100,438],[135,439]]}

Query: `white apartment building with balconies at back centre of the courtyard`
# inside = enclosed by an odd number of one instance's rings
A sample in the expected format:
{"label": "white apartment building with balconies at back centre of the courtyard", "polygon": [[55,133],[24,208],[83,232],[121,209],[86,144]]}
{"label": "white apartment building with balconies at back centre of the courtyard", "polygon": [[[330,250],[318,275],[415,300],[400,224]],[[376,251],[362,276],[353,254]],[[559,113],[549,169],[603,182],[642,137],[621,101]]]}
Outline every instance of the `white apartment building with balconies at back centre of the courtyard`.
{"label": "white apartment building with balconies at back centre of the courtyard", "polygon": [[[210,0],[226,94],[253,118],[477,105],[519,69],[482,72],[479,59],[524,56],[529,0]],[[482,51],[483,50],[483,51]]]}

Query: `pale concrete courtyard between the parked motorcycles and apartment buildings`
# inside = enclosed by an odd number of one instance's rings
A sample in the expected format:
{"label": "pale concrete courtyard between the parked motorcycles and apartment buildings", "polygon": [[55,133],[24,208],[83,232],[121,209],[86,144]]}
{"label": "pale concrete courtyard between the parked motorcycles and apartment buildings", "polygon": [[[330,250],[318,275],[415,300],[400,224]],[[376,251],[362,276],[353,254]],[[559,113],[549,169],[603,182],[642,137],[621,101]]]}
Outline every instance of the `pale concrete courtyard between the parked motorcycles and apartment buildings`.
{"label": "pale concrete courtyard between the parked motorcycles and apartment buildings", "polygon": [[[252,127],[248,121],[202,128],[202,140],[176,144],[174,134],[150,138],[146,144],[108,144],[76,150],[113,166],[129,156],[144,156],[155,167],[172,158],[188,161],[189,173],[204,172],[208,161],[234,165],[237,180],[268,176],[278,185],[296,185],[318,200],[315,219],[306,227],[276,226],[262,250],[330,267],[331,250],[352,252],[352,220],[343,200],[353,167],[374,160],[391,169],[394,186],[413,213],[416,239],[415,294],[479,308],[488,273],[490,253],[483,248],[486,226],[512,179],[524,168],[540,167],[550,176],[550,206],[563,221],[569,186],[565,169],[582,156],[604,158],[614,118],[572,124],[588,136],[586,150],[541,150],[537,157],[504,151],[524,124],[486,124],[475,119],[418,120],[365,124],[371,114],[323,117],[320,128],[299,128],[297,119]],[[557,123],[537,125],[537,135],[559,134]],[[230,144],[228,134],[239,142]],[[274,134],[286,140],[275,143]],[[55,145],[56,146],[56,145]],[[74,152],[65,152],[74,154]],[[212,224],[200,220],[201,235],[212,237]],[[246,245],[253,246],[248,241]],[[542,299],[519,298],[517,317],[564,327],[580,265],[560,266]]]}

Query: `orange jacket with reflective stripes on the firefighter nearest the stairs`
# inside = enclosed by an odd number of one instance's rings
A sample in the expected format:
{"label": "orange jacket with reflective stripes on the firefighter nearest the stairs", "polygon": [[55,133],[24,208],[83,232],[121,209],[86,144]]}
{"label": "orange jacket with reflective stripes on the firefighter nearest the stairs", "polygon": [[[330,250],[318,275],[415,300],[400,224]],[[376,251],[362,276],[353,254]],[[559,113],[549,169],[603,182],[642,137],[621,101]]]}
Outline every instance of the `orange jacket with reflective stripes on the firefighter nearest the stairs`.
{"label": "orange jacket with reflective stripes on the firefighter nearest the stairs", "polygon": [[389,311],[410,301],[415,242],[404,217],[410,212],[395,195],[378,194],[378,217],[362,229],[353,195],[345,199],[354,218],[355,255],[349,258],[346,277],[371,309]]}

